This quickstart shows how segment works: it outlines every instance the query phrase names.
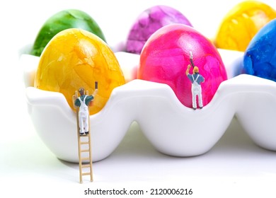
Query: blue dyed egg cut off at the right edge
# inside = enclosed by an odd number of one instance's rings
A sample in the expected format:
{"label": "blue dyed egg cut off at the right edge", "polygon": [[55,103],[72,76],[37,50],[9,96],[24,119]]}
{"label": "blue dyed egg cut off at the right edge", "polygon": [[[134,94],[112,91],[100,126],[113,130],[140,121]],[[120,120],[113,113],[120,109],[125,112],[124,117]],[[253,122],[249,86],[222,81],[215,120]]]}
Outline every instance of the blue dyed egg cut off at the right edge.
{"label": "blue dyed egg cut off at the right edge", "polygon": [[243,57],[243,72],[276,81],[276,19],[253,37]]}

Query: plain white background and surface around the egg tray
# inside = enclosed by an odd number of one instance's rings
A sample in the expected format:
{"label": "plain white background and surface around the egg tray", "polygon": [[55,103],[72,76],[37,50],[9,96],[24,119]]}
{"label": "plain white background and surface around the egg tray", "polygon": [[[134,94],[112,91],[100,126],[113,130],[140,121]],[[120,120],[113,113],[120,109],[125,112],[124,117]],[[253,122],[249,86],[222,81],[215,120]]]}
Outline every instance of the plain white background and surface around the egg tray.
{"label": "plain white background and surface around the egg tray", "polygon": [[[253,144],[235,119],[209,152],[192,158],[159,153],[134,124],[108,158],[93,163],[94,182],[86,182],[88,177],[84,177],[81,185],[79,165],[54,156],[36,134],[25,105],[18,52],[35,40],[41,25],[58,11],[86,11],[100,25],[107,42],[115,45],[126,39],[135,18],[150,6],[165,4],[177,8],[197,30],[211,38],[226,12],[238,2],[1,1],[0,197],[89,197],[84,195],[88,187],[125,187],[147,190],[148,194],[151,188],[192,188],[192,196],[187,197],[275,197],[276,152]],[[263,2],[276,9],[275,1]]]}

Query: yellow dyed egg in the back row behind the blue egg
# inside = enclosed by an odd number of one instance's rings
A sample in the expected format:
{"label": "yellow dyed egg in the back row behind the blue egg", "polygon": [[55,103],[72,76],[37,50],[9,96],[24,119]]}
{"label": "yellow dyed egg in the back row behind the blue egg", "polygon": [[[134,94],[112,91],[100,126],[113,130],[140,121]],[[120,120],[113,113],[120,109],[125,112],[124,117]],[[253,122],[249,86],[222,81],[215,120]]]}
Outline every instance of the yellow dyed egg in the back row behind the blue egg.
{"label": "yellow dyed egg in the back row behind the blue egg", "polygon": [[222,49],[244,52],[258,30],[274,18],[276,11],[267,4],[243,1],[224,17],[214,43]]}

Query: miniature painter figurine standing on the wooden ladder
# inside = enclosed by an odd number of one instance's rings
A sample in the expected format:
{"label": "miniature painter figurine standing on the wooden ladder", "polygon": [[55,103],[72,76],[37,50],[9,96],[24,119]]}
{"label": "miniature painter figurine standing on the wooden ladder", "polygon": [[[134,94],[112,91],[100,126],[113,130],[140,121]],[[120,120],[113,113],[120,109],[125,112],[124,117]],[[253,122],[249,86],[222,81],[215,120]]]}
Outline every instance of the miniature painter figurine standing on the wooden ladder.
{"label": "miniature painter figurine standing on the wooden ladder", "polygon": [[79,88],[79,93],[81,96],[75,100],[75,105],[79,107],[79,133],[81,135],[85,135],[89,133],[88,129],[88,105],[91,103],[91,100],[94,99],[96,93],[98,92],[98,88],[96,87],[95,91],[92,95],[85,95],[84,88]]}

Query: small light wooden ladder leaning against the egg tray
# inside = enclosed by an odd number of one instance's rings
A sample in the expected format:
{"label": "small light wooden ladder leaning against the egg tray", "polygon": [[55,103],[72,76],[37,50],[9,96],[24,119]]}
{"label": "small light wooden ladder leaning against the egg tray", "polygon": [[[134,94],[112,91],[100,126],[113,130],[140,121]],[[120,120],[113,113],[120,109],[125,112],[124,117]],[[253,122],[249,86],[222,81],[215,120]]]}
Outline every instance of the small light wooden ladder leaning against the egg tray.
{"label": "small light wooden ladder leaning against the egg tray", "polygon": [[[88,95],[88,91],[86,91]],[[78,92],[75,91],[73,96],[73,103],[78,98]],[[89,131],[86,135],[79,134],[79,107],[76,107],[76,133],[78,135],[78,149],[79,149],[79,182],[83,182],[82,176],[90,175],[90,181],[93,182],[93,171],[92,171],[92,155],[91,155],[91,132]],[[88,129],[90,129],[90,119],[88,120]],[[85,153],[88,153],[84,157]],[[88,161],[88,163],[87,163]]]}

